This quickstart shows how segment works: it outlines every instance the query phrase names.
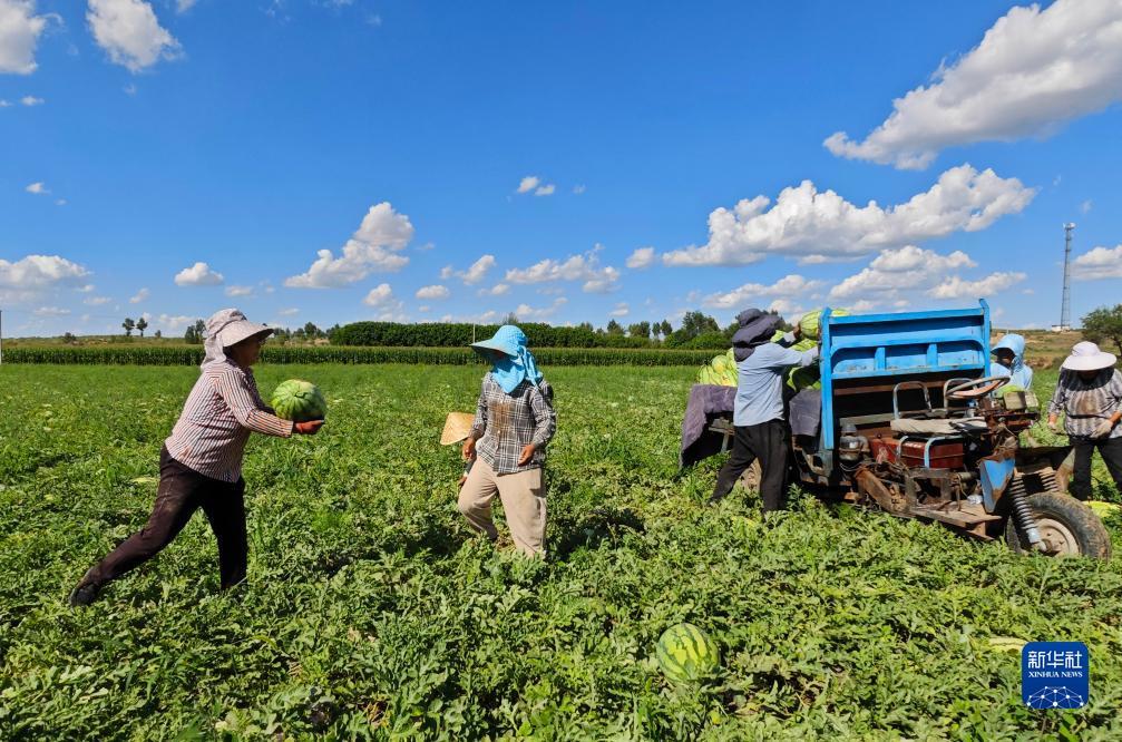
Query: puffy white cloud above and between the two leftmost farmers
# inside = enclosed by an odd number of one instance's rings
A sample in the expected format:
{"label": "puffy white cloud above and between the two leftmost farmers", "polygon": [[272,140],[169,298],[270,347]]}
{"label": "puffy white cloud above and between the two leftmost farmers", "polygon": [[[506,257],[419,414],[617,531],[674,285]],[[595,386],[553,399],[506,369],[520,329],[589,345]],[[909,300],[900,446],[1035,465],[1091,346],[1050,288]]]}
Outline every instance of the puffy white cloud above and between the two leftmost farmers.
{"label": "puffy white cloud above and between the two leftmost farmers", "polygon": [[394,211],[389,202],[370,207],[358,230],[335,257],[331,250],[320,250],[307,273],[286,278],[292,288],[331,288],[346,286],[375,272],[401,271],[410,259],[398,253],[413,239],[413,225],[405,214]]}

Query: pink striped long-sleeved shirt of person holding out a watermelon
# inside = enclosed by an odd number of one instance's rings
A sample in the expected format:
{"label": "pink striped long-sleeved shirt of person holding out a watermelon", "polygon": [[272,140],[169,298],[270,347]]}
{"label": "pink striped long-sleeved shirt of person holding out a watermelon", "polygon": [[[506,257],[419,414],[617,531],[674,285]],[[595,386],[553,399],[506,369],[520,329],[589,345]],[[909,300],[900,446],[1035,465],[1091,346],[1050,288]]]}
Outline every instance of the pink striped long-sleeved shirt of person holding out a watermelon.
{"label": "pink striped long-sleeved shirt of person holding out a watermelon", "polygon": [[287,438],[292,427],[261,401],[254,372],[227,359],[203,367],[164,445],[172,458],[199,474],[237,482],[249,433]]}

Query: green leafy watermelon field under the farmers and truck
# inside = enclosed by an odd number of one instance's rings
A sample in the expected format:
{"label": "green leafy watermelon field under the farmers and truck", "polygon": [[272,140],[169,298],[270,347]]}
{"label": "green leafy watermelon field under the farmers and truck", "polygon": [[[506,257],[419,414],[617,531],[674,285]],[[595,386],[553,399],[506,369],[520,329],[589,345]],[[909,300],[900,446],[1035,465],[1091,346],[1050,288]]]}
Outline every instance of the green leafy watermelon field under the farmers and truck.
{"label": "green leafy watermelon field under the farmers and truck", "polygon": [[[0,366],[0,739],[1122,739],[1122,519],[1098,562],[798,493],[766,521],[739,489],[707,507],[719,461],[677,466],[696,369],[545,370],[546,561],[456,511],[439,436],[481,368],[260,366],[263,391],[312,379],[329,413],[249,445],[248,584],[217,592],[197,516],[75,611],[147,517],[197,369]],[[655,647],[683,621],[721,661],[678,685]],[[1087,643],[1087,707],[1021,705],[1024,640]]]}

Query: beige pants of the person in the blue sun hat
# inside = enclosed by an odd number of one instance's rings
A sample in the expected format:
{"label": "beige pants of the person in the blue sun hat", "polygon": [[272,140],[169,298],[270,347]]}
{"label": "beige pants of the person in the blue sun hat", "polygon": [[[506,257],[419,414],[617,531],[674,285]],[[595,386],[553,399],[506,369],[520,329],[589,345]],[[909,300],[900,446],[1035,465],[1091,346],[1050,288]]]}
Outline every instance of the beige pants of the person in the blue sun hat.
{"label": "beige pants of the person in the blue sun hat", "polygon": [[458,505],[468,523],[491,541],[498,538],[490,516],[496,493],[503,502],[514,546],[530,557],[545,556],[545,480],[542,469],[499,475],[486,461],[476,459],[468,480],[460,489]]}

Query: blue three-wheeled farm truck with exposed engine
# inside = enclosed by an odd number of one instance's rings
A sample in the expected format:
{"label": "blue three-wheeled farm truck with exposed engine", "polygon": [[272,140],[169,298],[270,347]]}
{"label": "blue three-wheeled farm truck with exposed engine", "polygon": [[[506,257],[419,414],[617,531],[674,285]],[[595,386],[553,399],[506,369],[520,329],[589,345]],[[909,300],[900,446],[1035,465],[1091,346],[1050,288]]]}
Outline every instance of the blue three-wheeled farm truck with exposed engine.
{"label": "blue three-wheeled farm truck with exposed engine", "polygon": [[792,415],[820,414],[817,425],[793,425],[797,480],[977,539],[1004,538],[1017,551],[1110,557],[1102,521],[1067,495],[1070,446],[1020,445],[1039,403],[991,375],[984,301],[844,317],[827,309],[820,341],[821,388],[791,401]]}

